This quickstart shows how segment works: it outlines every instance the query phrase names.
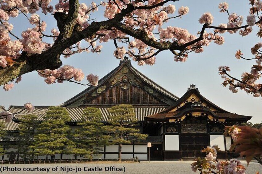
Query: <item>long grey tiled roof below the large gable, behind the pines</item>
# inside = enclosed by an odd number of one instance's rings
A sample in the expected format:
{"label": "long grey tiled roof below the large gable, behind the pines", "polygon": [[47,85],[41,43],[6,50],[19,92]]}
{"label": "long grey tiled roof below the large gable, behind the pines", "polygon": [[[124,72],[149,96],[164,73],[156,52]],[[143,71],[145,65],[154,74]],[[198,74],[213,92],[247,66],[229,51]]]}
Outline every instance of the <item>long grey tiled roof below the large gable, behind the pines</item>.
{"label": "long grey tiled roof below the large gable, behind the pines", "polygon": [[[46,115],[49,106],[35,106],[35,109],[32,113],[29,113],[27,110],[24,110],[23,106],[10,106],[9,112],[19,114],[15,115],[16,118],[22,115],[34,114],[38,116],[38,120],[44,120],[43,116]],[[78,121],[83,113],[83,110],[86,107],[65,107],[68,111],[72,121]],[[103,121],[108,121],[107,115],[109,115],[108,108],[110,107],[97,107],[100,109]],[[145,116],[153,115],[158,112],[165,110],[167,107],[134,107],[136,118],[138,121],[143,121]]]}

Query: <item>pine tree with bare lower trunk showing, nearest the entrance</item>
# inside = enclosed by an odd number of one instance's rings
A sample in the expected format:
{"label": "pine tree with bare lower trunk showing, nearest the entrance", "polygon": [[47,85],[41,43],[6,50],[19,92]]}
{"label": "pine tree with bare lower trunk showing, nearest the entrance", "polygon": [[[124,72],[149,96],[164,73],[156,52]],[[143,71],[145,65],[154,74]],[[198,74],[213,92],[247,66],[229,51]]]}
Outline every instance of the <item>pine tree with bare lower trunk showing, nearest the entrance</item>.
{"label": "pine tree with bare lower trunk showing, nearest the entrance", "polygon": [[147,135],[137,133],[139,129],[136,126],[137,119],[132,105],[120,104],[111,107],[108,115],[110,126],[105,128],[110,134],[112,144],[118,145],[118,160],[121,161],[122,144],[130,144],[132,141],[145,140]]}

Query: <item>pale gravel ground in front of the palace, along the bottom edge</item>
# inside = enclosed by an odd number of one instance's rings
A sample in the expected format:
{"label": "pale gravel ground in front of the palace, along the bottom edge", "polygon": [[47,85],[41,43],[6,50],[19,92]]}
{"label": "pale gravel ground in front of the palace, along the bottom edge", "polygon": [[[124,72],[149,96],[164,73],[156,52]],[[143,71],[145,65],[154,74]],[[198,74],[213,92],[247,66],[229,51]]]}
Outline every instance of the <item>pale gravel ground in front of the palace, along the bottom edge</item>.
{"label": "pale gravel ground in front of the palace, along the bottom edge", "polygon": [[[81,172],[77,173],[123,173],[123,172],[106,172],[105,169],[109,167],[116,167],[116,168],[125,168],[125,173],[127,174],[193,174],[194,172],[191,171],[190,164],[192,161],[176,161],[176,162],[150,162],[150,163],[93,163],[93,164],[3,164],[0,165],[0,172],[6,173],[6,174],[42,174],[42,173],[55,173],[55,174],[66,174],[66,173],[76,173],[75,168],[81,168]],[[244,164],[246,167],[247,164]],[[3,172],[4,167],[21,169],[21,171],[10,171],[10,172]],[[50,168],[49,172],[24,172],[23,168]],[[61,167],[69,167],[74,168],[73,171],[67,172],[67,171],[61,171]],[[91,172],[91,171],[83,171],[85,167],[95,168],[99,167],[102,168],[102,172]],[[52,168],[58,168],[57,172],[53,172]],[[87,168],[85,168],[87,169]],[[123,169],[124,170],[124,169]],[[257,163],[249,164],[247,167],[246,174],[256,174],[256,172],[259,171],[262,173],[262,166]]]}

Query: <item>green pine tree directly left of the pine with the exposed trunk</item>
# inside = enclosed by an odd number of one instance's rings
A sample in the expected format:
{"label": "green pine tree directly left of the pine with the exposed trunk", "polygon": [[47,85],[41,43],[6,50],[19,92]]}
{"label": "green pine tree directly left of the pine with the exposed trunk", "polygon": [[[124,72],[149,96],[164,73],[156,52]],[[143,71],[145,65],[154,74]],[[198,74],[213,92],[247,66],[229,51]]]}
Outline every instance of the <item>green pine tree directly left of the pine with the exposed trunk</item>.
{"label": "green pine tree directly left of the pine with the exposed trunk", "polygon": [[87,107],[78,125],[82,127],[75,129],[76,152],[74,154],[91,159],[93,154],[98,154],[109,142],[109,136],[106,136],[104,132],[100,110]]}

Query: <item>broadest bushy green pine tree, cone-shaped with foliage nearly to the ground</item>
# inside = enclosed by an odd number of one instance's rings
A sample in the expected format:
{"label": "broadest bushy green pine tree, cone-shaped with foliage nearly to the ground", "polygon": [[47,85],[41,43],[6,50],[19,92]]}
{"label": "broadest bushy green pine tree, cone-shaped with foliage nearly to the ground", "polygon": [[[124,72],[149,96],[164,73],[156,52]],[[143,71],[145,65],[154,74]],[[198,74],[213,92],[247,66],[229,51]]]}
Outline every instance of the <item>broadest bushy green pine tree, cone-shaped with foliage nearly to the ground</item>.
{"label": "broadest bushy green pine tree, cone-shaped with foliage nearly to the ground", "polygon": [[46,155],[46,158],[51,156],[54,159],[55,154],[71,153],[74,149],[74,142],[68,138],[71,128],[66,124],[70,121],[66,109],[50,107],[43,119],[44,121],[39,124],[32,146],[36,154]]}

